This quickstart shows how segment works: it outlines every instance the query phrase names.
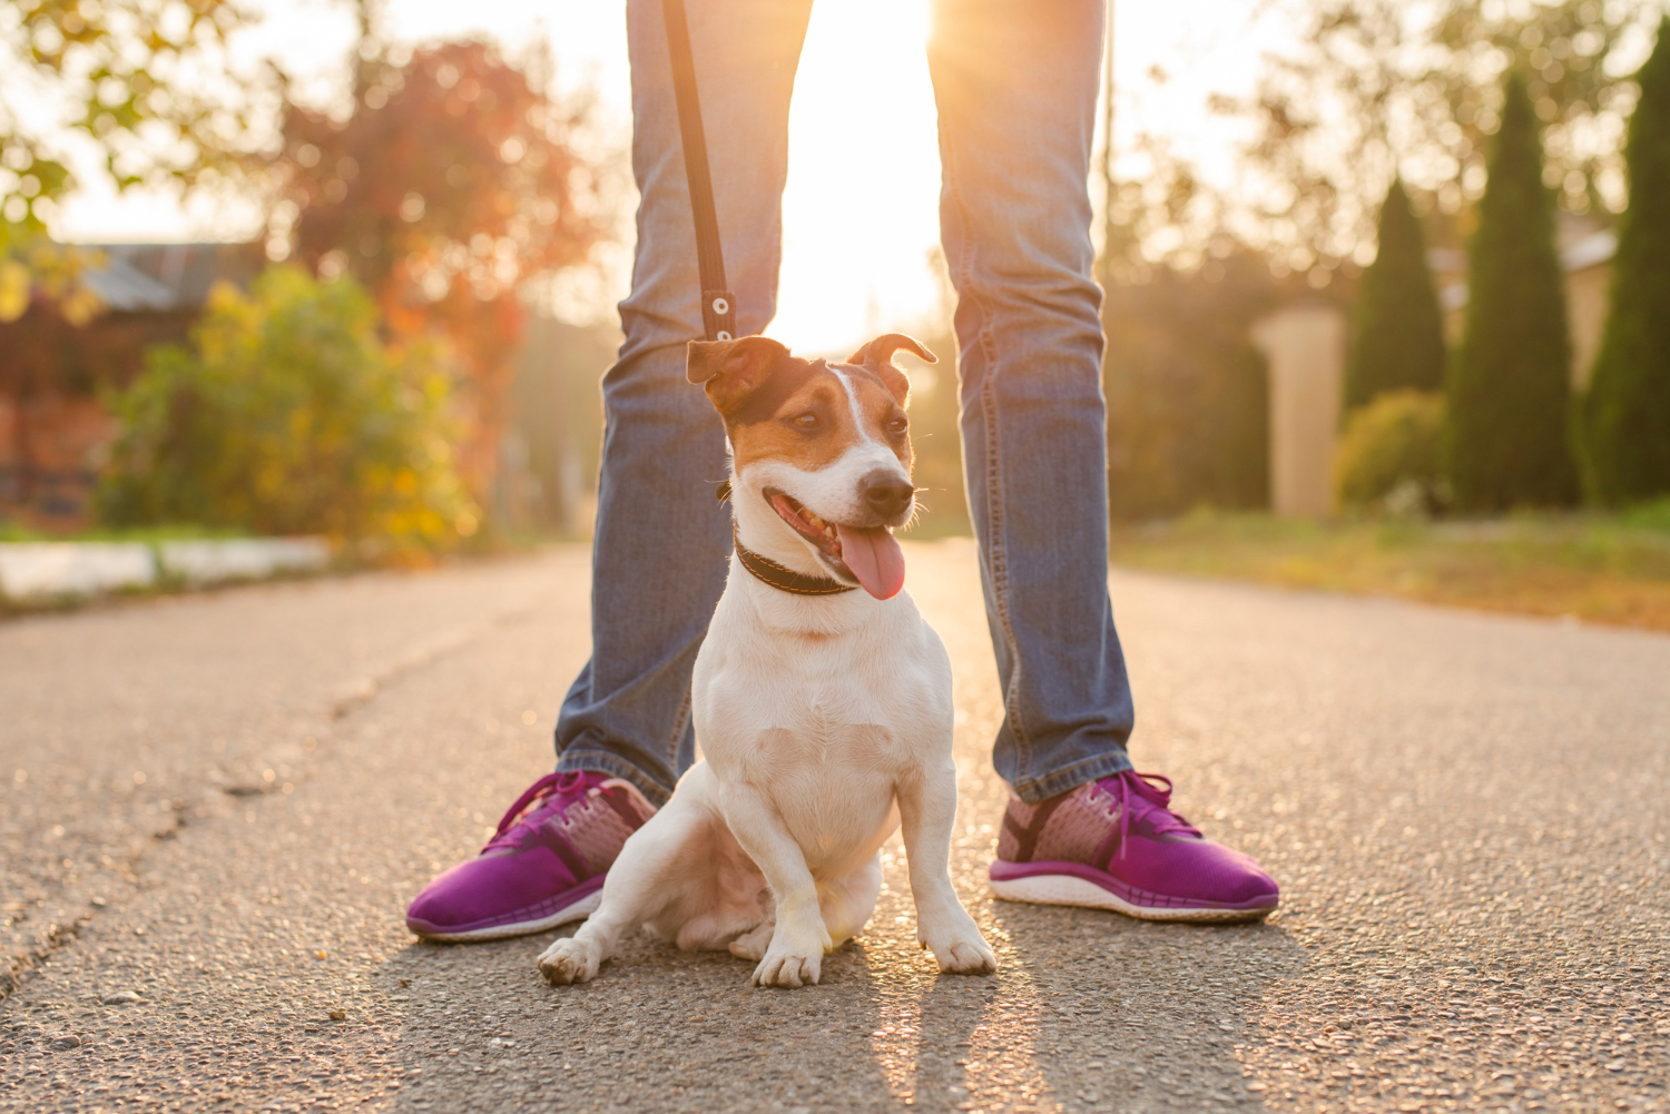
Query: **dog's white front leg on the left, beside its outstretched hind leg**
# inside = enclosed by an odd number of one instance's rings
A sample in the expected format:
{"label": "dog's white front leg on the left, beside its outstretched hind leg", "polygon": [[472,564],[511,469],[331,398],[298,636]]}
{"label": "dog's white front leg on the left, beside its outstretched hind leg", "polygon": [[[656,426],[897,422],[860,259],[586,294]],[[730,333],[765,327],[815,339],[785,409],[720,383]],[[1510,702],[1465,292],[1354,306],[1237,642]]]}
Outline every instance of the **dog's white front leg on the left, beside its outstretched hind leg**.
{"label": "dog's white front leg on the left, beside its outstretched hind leg", "polygon": [[805,852],[783,827],[772,802],[752,785],[726,785],[721,800],[731,835],[765,875],[777,905],[772,945],[750,982],[760,987],[815,984],[830,934],[823,927],[818,887],[807,868]]}

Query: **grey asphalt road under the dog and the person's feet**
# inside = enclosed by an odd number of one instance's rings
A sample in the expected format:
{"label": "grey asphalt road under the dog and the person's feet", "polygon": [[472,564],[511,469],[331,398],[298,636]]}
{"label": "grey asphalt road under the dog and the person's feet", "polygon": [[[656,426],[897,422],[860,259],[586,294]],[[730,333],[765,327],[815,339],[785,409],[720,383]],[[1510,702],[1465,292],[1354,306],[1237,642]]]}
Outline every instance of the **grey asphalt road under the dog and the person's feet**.
{"label": "grey asphalt road under the dog and the person's feet", "polygon": [[1670,638],[1116,573],[1137,765],[1284,889],[1151,925],[985,895],[972,549],[908,560],[990,979],[915,949],[897,843],[805,990],[406,934],[549,768],[579,549],[0,625],[0,1109],[1670,1109]]}

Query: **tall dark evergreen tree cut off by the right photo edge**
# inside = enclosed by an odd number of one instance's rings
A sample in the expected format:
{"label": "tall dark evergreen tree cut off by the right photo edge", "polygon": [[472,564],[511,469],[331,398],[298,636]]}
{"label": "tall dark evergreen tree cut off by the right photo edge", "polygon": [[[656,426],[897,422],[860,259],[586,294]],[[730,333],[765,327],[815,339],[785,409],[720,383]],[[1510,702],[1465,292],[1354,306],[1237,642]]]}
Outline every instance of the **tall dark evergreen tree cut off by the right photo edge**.
{"label": "tall dark evergreen tree cut off by the right photo edge", "polygon": [[1590,498],[1670,494],[1670,17],[1640,72],[1612,312],[1578,418]]}

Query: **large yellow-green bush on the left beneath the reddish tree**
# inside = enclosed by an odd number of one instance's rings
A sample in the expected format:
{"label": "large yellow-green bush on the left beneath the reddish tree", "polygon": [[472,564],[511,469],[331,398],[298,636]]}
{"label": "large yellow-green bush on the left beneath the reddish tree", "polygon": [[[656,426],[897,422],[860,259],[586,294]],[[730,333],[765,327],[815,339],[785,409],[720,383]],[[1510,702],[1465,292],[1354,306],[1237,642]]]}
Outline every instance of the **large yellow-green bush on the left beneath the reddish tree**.
{"label": "large yellow-green bush on the left beneath the reddish tree", "polygon": [[199,523],[439,549],[476,529],[453,468],[451,377],[428,346],[384,346],[349,279],[267,271],[222,286],[190,349],[147,352],[114,399],[100,488],[110,524]]}

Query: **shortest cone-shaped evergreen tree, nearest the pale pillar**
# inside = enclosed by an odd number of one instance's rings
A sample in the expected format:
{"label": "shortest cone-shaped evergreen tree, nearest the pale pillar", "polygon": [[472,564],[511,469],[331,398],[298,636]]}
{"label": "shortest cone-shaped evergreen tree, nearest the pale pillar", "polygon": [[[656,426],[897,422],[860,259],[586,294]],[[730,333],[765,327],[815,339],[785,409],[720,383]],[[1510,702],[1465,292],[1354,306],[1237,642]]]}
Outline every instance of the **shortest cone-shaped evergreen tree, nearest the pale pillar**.
{"label": "shortest cone-shaped evergreen tree, nearest the pale pillar", "polygon": [[1441,391],[1445,324],[1426,269],[1421,222],[1403,182],[1391,180],[1379,209],[1379,251],[1363,274],[1346,362],[1346,409],[1386,391]]}

